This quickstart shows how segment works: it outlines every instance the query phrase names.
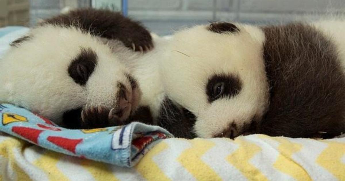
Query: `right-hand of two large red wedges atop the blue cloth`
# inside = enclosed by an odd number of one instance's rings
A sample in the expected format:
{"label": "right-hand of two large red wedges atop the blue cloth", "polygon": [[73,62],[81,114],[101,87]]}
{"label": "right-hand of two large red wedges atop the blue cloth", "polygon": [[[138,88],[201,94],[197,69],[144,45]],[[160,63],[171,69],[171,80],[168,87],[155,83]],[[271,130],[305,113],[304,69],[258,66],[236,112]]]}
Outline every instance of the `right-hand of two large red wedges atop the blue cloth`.
{"label": "right-hand of two large red wedges atop the blue cloth", "polygon": [[63,138],[63,137],[53,137],[49,136],[47,138],[48,141],[54,143],[58,147],[61,147],[65,150],[68,150],[74,154],[76,154],[76,147],[77,145],[83,141],[83,139],[69,139],[69,138]]}

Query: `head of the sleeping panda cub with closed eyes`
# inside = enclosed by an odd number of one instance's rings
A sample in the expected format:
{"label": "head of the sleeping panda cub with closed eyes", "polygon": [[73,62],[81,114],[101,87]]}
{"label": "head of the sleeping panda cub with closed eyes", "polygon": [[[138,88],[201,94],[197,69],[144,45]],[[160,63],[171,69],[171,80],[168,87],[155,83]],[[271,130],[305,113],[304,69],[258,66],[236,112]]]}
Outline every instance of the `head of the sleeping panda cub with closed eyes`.
{"label": "head of the sleeping panda cub with closed eyes", "polygon": [[124,121],[138,106],[141,92],[135,78],[111,48],[90,33],[45,25],[12,46],[2,61],[9,78],[0,79],[6,85],[6,94],[0,96],[6,100],[1,101],[63,121],[69,128]]}

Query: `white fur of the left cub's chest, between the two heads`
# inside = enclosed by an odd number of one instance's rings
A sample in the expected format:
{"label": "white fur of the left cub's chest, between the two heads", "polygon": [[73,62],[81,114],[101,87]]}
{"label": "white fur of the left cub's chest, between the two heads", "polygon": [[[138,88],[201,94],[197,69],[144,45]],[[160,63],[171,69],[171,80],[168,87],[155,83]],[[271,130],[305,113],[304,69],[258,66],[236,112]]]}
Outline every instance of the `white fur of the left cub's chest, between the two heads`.
{"label": "white fur of the left cub's chest, between the two heads", "polygon": [[[157,118],[161,108],[161,103],[165,98],[165,91],[162,86],[161,74],[159,70],[159,62],[166,52],[166,47],[169,39],[158,37],[151,34],[154,39],[155,48],[145,54],[123,53],[123,46],[114,48],[115,52],[122,52],[119,54],[130,68],[132,75],[140,84],[142,92],[140,106],[149,106],[152,116]],[[157,124],[154,120],[154,124]]]}

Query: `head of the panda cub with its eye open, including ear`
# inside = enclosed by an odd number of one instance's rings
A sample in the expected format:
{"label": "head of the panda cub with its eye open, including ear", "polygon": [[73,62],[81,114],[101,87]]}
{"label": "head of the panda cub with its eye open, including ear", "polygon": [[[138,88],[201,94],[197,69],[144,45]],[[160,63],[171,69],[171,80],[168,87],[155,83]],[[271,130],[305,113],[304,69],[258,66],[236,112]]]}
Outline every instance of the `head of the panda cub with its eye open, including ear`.
{"label": "head of the panda cub with its eye open, including ear", "polygon": [[264,33],[244,24],[212,23],[177,32],[160,73],[170,99],[195,115],[199,137],[255,131],[269,99]]}

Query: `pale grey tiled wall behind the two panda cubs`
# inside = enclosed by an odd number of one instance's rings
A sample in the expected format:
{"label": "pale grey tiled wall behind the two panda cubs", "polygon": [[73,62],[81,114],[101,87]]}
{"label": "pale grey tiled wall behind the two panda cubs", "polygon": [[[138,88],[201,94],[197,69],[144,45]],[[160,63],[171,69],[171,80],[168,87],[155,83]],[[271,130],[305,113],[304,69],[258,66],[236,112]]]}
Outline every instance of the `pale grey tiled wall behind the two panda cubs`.
{"label": "pale grey tiled wall behind the two panda cubs", "polygon": [[[31,0],[33,19],[57,14],[77,2],[86,7],[91,0]],[[96,0],[97,1],[97,0]],[[180,27],[208,21],[249,23],[285,22],[327,12],[345,12],[345,0],[128,0],[130,17],[151,31],[169,34]],[[32,21],[32,24],[34,21]]]}

